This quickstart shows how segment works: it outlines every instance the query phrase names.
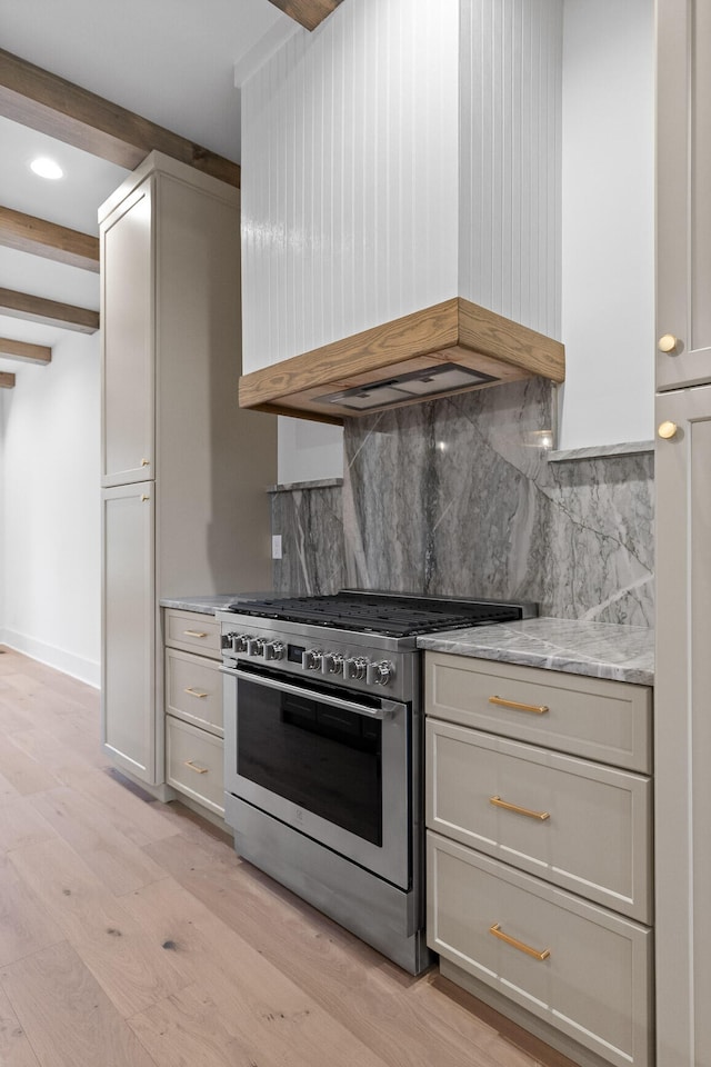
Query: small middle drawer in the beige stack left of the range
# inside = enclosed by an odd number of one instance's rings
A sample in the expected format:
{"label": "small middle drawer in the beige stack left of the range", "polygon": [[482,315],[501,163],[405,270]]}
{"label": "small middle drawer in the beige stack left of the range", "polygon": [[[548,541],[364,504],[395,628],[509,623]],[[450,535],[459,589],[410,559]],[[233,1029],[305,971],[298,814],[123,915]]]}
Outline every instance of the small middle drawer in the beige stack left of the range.
{"label": "small middle drawer in the beige stack left of the range", "polygon": [[220,666],[202,656],[166,649],[166,711],[222,737]]}

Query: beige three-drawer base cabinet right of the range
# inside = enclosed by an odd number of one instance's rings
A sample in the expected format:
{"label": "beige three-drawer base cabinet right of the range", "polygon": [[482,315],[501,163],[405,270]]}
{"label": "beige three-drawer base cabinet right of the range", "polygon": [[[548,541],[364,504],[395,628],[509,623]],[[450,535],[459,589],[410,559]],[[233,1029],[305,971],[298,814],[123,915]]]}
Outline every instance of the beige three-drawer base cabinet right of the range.
{"label": "beige three-drawer base cabinet right of the range", "polygon": [[425,701],[442,974],[575,1063],[649,1067],[650,690],[428,652]]}

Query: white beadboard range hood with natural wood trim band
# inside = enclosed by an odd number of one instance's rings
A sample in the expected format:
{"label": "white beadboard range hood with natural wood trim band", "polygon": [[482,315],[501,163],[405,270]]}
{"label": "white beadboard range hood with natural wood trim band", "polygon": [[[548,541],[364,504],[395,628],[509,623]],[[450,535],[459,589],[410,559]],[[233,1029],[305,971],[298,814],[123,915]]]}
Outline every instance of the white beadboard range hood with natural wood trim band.
{"label": "white beadboard range hood with natural wood trim band", "polygon": [[242,405],[562,380],[562,11],[343,3],[242,87]]}

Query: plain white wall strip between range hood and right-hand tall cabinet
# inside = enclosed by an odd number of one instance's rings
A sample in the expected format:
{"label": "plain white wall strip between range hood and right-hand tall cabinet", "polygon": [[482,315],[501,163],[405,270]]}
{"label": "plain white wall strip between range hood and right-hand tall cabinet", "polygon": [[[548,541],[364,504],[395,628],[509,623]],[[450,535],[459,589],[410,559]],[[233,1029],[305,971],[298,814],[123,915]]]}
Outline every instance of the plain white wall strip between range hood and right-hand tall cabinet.
{"label": "plain white wall strip between range hood and right-hand tall cabinet", "polygon": [[565,0],[561,448],[653,437],[653,0]]}

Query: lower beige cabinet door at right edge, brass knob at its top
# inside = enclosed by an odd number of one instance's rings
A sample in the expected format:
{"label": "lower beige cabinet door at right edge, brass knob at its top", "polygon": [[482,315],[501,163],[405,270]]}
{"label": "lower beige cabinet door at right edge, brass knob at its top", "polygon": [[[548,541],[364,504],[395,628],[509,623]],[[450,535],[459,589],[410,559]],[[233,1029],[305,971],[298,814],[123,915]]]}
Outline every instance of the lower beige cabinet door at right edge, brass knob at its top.
{"label": "lower beige cabinet door at right edge, brass knob at its top", "polygon": [[711,1067],[711,386],[657,418],[658,1063]]}

